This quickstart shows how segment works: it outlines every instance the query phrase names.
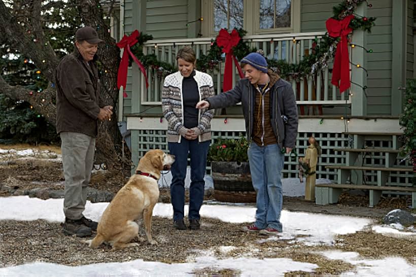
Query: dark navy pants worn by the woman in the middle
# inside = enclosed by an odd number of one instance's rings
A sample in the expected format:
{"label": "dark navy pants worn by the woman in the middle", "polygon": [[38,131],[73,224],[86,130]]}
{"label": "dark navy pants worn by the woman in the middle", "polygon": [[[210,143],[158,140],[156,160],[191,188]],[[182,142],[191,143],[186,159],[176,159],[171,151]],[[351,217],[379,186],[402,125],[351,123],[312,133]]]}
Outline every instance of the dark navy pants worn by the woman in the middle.
{"label": "dark navy pants worn by the woman in the middle", "polygon": [[206,155],[210,141],[198,142],[181,137],[181,143],[168,143],[169,152],[175,155],[172,164],[172,183],[170,184],[170,199],[174,207],[174,221],[184,218],[185,206],[185,177],[188,164],[188,153],[191,161],[191,185],[189,187],[189,215],[188,219],[200,219],[204,186]]}

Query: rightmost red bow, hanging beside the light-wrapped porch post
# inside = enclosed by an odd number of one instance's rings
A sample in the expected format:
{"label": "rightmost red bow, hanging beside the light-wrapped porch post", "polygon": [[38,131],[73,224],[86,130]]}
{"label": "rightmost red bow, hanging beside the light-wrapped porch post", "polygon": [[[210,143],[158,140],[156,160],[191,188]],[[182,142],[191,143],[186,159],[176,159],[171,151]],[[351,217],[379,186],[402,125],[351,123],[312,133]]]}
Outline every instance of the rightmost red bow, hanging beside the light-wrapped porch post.
{"label": "rightmost red bow, hanging beside the light-wrapped porch post", "polygon": [[336,46],[331,80],[333,85],[339,87],[341,93],[351,87],[350,58],[348,57],[348,43],[346,36],[353,31],[353,29],[348,26],[353,18],[354,15],[349,15],[339,21],[333,18],[326,21],[326,28],[329,36],[332,38],[341,38]]}

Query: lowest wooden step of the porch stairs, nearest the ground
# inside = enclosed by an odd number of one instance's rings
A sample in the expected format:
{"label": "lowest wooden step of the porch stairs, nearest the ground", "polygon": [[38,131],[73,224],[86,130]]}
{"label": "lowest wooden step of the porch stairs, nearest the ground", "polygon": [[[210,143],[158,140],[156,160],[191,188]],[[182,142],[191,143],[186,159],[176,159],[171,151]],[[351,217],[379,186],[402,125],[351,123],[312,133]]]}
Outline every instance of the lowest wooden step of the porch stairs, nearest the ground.
{"label": "lowest wooden step of the porch stairs, nearest the ground", "polygon": [[412,209],[416,207],[416,187],[397,187],[397,186],[375,186],[375,185],[353,185],[353,184],[316,184],[315,203],[317,205],[327,205],[338,202],[339,195],[343,190],[369,190],[369,206],[373,207],[380,200],[383,191],[385,192],[411,192]]}

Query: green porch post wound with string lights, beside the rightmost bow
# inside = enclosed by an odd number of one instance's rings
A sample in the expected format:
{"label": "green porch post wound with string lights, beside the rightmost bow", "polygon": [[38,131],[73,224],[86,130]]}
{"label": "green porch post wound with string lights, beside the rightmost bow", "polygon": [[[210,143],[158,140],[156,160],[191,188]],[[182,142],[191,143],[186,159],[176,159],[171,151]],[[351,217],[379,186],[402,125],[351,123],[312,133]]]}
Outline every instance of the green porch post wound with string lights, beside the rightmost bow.
{"label": "green porch post wound with string lights, beside the rightmost bow", "polygon": [[[365,3],[357,7],[356,13],[360,16],[367,16],[367,5]],[[366,47],[366,34],[363,30],[354,30],[352,44]],[[366,68],[367,52],[361,47],[350,48],[351,62],[360,64]],[[363,68],[359,68],[351,64],[351,89],[353,94],[351,97],[351,115],[352,116],[366,116],[367,115],[367,97],[365,96],[362,87],[367,85],[367,74]],[[354,83],[360,85],[355,85]],[[362,87],[361,87],[362,86]],[[344,92],[345,93],[345,92]]]}

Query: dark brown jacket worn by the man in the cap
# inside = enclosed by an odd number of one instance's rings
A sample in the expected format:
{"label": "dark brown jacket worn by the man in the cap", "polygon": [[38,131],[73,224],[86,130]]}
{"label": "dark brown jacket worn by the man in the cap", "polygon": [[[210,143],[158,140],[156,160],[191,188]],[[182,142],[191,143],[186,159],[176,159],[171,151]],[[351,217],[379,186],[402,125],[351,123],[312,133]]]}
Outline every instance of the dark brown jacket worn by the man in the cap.
{"label": "dark brown jacket worn by the man in the cap", "polygon": [[100,83],[93,61],[85,62],[77,49],[56,68],[56,132],[97,136]]}

